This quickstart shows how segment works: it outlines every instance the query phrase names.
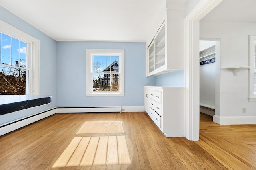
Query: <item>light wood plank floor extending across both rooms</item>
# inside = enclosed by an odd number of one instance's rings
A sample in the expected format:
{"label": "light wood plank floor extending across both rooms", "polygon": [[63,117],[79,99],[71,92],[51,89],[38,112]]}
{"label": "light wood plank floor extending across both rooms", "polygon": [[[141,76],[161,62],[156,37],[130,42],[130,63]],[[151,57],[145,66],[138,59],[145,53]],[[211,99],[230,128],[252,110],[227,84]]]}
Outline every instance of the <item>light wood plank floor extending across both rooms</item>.
{"label": "light wood plank floor extending across both rooms", "polygon": [[[81,130],[84,123],[89,121],[122,121],[123,131],[121,127],[117,131],[105,132],[89,133]],[[116,161],[116,164],[97,166],[66,164],[53,168],[63,154],[68,155],[64,151],[69,149],[72,141],[78,140],[82,146],[84,143],[81,141],[86,141],[88,137],[102,137],[102,140],[106,137],[108,140],[125,138],[122,146],[127,147],[130,162]],[[106,149],[98,150],[108,152]],[[78,155],[77,152],[72,154],[74,155]],[[116,156],[112,157],[117,159]],[[75,158],[68,157],[69,161]],[[211,117],[202,114],[200,141],[196,142],[188,141],[184,137],[166,138],[144,112],[56,114],[0,137],[0,170],[232,168],[256,169],[256,125],[217,125],[212,122]]]}

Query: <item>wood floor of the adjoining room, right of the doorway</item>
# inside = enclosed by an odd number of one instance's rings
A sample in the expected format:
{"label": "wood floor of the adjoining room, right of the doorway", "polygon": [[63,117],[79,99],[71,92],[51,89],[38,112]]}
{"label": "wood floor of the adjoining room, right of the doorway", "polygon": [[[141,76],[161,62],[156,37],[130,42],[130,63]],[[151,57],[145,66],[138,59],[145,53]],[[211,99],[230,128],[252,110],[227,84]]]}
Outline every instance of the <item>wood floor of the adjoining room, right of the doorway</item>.
{"label": "wood floor of the adjoining room, right of the doorway", "polygon": [[256,169],[256,125],[218,125],[200,114],[200,147],[228,169]]}

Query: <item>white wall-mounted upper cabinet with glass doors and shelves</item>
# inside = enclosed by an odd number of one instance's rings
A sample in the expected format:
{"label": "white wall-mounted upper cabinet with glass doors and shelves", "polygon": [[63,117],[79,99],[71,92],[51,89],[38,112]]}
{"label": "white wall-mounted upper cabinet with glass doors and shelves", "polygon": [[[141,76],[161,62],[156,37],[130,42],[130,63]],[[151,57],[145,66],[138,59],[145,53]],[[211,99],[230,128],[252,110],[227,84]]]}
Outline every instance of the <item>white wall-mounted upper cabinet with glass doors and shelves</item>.
{"label": "white wall-mounted upper cabinet with glass doors and shelves", "polygon": [[146,76],[184,69],[184,12],[167,9],[161,20],[147,41]]}

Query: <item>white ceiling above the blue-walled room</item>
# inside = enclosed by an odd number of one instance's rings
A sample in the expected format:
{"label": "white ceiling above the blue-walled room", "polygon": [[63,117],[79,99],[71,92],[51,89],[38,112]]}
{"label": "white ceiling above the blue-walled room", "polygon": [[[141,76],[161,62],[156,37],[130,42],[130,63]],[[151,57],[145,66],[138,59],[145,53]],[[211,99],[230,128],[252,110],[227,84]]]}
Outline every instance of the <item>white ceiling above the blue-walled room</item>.
{"label": "white ceiling above the blue-walled room", "polygon": [[0,0],[0,5],[57,41],[146,42],[165,0]]}

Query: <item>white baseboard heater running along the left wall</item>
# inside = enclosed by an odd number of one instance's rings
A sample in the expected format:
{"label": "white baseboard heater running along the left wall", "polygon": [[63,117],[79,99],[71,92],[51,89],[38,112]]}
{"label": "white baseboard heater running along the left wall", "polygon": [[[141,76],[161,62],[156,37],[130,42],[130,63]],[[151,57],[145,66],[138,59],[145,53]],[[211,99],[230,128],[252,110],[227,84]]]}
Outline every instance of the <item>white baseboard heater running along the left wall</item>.
{"label": "white baseboard heater running along the left wall", "polygon": [[43,113],[36,113],[34,115],[30,115],[28,117],[23,117],[22,119],[18,119],[12,122],[8,122],[0,125],[0,136],[31,123],[34,123],[40,119],[44,119],[48,116],[54,115],[56,113],[56,109],[50,109],[49,111],[44,111]]}

